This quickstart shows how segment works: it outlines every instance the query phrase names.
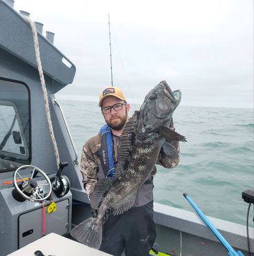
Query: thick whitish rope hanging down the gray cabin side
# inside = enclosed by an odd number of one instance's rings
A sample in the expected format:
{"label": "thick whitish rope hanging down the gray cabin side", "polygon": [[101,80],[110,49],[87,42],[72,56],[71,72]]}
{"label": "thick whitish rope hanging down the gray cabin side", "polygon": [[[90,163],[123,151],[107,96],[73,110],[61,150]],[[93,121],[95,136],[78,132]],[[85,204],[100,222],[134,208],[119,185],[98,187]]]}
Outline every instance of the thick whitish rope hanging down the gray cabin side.
{"label": "thick whitish rope hanging down the gray cabin side", "polygon": [[55,151],[55,156],[56,156],[56,164],[57,164],[57,167],[59,168],[60,158],[59,158],[58,146],[56,144],[56,138],[54,135],[54,129],[52,126],[52,121],[51,121],[51,116],[50,116],[50,111],[49,111],[49,98],[47,96],[47,88],[46,88],[45,79],[44,79],[44,75],[43,75],[43,66],[41,65],[41,56],[40,56],[40,50],[39,50],[37,30],[36,30],[36,26],[34,25],[34,21],[32,21],[27,16],[23,16],[23,18],[28,23],[30,23],[30,26],[31,26],[32,32],[33,32],[33,36],[34,36],[34,50],[35,50],[35,55],[36,55],[36,63],[37,63],[37,67],[38,67],[38,72],[39,72],[39,76],[41,79],[41,87],[43,89],[43,96],[44,96],[46,116],[47,116],[47,124],[49,126],[49,133],[50,133],[51,141],[54,146],[54,151]]}

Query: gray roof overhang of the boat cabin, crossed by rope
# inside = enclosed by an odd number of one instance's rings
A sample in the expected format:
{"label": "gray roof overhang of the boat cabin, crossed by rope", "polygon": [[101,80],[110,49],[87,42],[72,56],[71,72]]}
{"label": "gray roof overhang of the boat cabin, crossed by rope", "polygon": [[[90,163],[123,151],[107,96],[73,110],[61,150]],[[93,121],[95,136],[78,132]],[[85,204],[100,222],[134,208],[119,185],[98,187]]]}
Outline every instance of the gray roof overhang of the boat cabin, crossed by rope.
{"label": "gray roof overhang of the boat cabin, crossed by rope", "polygon": [[[0,10],[0,50],[2,48],[37,68],[30,25],[3,0],[0,0]],[[43,72],[61,83],[62,87],[72,83],[76,73],[75,65],[39,32],[38,41]],[[67,67],[62,60],[71,67]]]}

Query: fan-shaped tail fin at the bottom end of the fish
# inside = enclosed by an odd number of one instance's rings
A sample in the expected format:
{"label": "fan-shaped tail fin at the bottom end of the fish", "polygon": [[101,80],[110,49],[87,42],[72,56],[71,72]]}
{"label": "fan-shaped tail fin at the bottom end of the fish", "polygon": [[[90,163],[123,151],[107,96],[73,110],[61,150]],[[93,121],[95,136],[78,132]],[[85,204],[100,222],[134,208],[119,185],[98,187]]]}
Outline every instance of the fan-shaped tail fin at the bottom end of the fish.
{"label": "fan-shaped tail fin at the bottom end of the fish", "polygon": [[99,249],[102,244],[102,226],[95,225],[95,218],[89,217],[71,230],[71,236],[89,246]]}

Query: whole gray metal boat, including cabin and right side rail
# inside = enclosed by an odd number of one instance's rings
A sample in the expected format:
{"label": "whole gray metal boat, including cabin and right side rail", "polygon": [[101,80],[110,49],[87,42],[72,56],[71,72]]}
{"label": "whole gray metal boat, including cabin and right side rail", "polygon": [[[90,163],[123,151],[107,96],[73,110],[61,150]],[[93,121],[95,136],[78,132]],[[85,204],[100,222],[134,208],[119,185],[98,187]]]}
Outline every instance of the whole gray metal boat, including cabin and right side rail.
{"label": "whole gray metal boat, including cabin and right side rail", "polygon": [[[54,46],[52,34],[43,36],[40,23],[36,28],[47,96],[38,75],[32,27],[10,1],[0,0],[0,256],[51,233],[71,239],[71,228],[91,216],[78,154],[55,96],[73,82],[76,66]],[[33,186],[36,193],[31,193]],[[209,220],[235,250],[248,255],[246,226]],[[168,255],[227,255],[194,211],[155,202],[154,221],[155,250]],[[249,239],[254,255],[253,228]]]}

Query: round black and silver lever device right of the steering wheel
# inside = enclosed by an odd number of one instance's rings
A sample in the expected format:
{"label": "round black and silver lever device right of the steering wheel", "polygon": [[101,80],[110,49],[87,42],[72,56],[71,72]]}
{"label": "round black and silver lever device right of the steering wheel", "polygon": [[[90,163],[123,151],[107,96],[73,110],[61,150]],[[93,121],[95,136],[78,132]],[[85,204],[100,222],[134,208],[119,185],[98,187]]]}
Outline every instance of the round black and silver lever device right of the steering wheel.
{"label": "round black and silver lever device right of the steering wheel", "polygon": [[68,162],[60,162],[56,176],[51,179],[52,189],[58,198],[66,195],[69,192],[70,182],[66,175],[62,174],[62,169],[68,166]]}

